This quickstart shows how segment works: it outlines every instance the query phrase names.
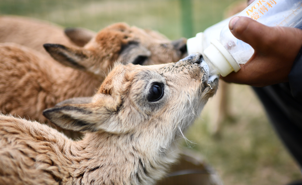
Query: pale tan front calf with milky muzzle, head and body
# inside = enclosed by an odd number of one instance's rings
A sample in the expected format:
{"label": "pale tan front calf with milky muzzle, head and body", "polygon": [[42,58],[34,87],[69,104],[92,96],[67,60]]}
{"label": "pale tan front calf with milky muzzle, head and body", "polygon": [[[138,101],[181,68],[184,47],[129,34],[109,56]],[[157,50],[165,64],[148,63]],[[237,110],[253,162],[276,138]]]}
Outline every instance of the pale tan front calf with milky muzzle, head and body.
{"label": "pale tan front calf with milky muzzle, head and body", "polygon": [[[178,157],[177,141],[217,89],[201,55],[170,64],[117,64],[91,103],[43,114],[86,133],[0,116],[0,184],[154,184]],[[209,80],[211,79],[211,80]],[[163,96],[149,101],[152,84]]]}

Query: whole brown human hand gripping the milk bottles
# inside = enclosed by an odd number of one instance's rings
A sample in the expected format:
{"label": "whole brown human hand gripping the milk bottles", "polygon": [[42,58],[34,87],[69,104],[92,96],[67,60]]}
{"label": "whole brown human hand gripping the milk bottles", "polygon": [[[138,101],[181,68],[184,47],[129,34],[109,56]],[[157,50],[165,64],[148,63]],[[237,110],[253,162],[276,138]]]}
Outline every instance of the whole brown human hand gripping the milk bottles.
{"label": "whole brown human hand gripping the milk bottles", "polygon": [[288,82],[288,74],[302,46],[302,30],[268,27],[248,17],[233,17],[231,33],[255,50],[241,69],[221,77],[226,82],[267,86]]}

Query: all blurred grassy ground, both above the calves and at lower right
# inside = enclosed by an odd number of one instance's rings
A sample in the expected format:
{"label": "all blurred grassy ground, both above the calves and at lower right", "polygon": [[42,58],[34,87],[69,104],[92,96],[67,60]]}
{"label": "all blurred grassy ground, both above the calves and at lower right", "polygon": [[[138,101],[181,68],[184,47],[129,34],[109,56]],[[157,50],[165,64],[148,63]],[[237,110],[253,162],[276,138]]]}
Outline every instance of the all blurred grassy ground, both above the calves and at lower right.
{"label": "all blurred grassy ground, both above the calves and at lower right", "polygon": [[[237,0],[1,0],[0,14],[47,20],[63,27],[99,31],[126,22],[157,30],[169,39],[192,37],[223,19]],[[219,137],[210,132],[215,97],[186,136],[226,185],[286,184],[301,179],[300,167],[269,124],[259,100],[248,86],[230,85],[230,117]],[[184,148],[187,147],[184,143]]]}

